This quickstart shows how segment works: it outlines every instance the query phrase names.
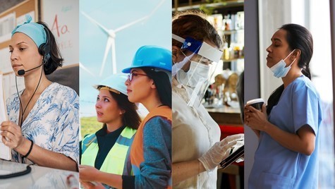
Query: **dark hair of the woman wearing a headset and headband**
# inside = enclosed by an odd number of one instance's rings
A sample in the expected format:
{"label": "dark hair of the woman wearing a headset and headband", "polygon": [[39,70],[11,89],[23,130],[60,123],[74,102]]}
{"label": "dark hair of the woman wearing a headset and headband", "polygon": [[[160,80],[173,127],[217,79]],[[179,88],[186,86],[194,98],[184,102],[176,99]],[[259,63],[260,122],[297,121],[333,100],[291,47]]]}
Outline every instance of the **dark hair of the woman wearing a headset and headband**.
{"label": "dark hair of the woman wearing a headset and headband", "polygon": [[43,25],[44,28],[46,28],[49,32],[48,44],[50,47],[50,58],[43,66],[45,75],[49,75],[56,71],[58,67],[63,66],[63,58],[61,57],[61,52],[59,51],[59,47],[56,44],[55,37],[52,34],[51,30],[49,30],[47,24],[42,21],[39,21],[37,23]]}

